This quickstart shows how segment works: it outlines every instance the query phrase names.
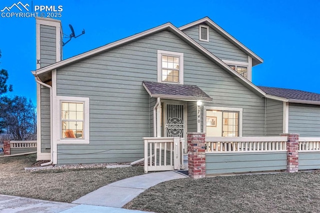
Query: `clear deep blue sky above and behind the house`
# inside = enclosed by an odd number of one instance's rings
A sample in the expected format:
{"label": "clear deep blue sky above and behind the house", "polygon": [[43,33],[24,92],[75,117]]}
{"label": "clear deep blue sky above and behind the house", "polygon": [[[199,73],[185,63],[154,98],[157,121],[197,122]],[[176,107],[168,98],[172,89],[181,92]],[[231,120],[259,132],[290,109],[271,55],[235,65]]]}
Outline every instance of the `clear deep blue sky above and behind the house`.
{"label": "clear deep blue sky above and behind the house", "polygon": [[[19,0],[0,1],[0,10]],[[31,5],[31,0],[21,0]],[[181,26],[208,16],[264,59],[253,67],[256,85],[320,93],[320,1],[318,0],[33,0],[33,5],[62,5],[62,28],[75,34],[63,58],[171,22]],[[0,68],[9,72],[11,95],[36,101],[35,19],[0,17]],[[64,38],[66,40],[66,38]],[[64,40],[64,41],[65,41]]]}

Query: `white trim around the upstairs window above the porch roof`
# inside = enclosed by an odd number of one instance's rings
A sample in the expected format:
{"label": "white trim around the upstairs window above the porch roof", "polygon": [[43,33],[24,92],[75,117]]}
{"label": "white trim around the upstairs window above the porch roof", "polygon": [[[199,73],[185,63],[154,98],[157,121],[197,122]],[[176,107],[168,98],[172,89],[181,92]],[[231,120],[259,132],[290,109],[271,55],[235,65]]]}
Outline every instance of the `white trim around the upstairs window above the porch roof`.
{"label": "white trim around the upstairs window above the porch roof", "polygon": [[[162,54],[179,57],[179,82],[167,82],[162,81]],[[182,52],[171,52],[165,50],[157,50],[157,81],[161,83],[174,83],[183,84],[183,53]]]}

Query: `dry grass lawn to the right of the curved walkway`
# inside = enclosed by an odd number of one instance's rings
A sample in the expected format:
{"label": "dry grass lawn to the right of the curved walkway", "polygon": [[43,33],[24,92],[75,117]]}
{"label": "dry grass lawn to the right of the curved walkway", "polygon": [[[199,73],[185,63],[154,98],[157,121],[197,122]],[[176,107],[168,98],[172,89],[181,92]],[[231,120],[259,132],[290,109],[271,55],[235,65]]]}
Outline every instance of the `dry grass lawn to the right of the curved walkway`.
{"label": "dry grass lawn to the right of the curved walkway", "polygon": [[147,189],[125,207],[155,212],[319,212],[320,172],[176,179]]}

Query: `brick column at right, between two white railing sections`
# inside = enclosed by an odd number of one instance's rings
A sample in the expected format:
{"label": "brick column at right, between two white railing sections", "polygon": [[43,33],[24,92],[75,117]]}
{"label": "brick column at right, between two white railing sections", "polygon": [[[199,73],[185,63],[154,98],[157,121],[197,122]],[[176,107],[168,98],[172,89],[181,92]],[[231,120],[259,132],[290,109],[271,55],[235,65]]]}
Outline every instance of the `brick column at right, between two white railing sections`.
{"label": "brick column at right, between two white railing sections", "polygon": [[281,136],[288,137],[286,142],[286,172],[296,172],[299,167],[299,134],[283,133]]}

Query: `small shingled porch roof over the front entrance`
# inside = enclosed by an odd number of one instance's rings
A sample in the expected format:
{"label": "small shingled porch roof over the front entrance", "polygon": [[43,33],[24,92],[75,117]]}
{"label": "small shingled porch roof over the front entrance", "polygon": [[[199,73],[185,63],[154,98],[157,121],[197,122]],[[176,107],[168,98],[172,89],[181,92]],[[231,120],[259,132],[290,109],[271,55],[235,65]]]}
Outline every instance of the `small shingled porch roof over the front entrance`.
{"label": "small shingled porch roof over the front entrance", "polygon": [[151,97],[160,97],[172,100],[212,101],[212,98],[196,85],[159,83],[151,81],[142,81],[142,84]]}

